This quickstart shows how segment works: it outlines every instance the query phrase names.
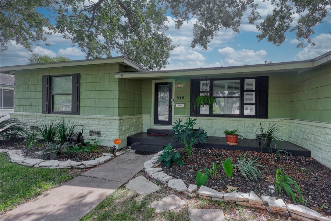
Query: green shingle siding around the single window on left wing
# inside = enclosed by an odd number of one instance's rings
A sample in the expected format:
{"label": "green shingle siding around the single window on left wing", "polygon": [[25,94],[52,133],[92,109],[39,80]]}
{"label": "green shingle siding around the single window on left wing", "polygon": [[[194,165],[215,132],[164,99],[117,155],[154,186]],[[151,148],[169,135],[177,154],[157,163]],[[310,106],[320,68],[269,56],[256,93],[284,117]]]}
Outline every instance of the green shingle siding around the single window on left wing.
{"label": "green shingle siding around the single window on left wing", "polygon": [[15,112],[41,113],[42,76],[80,73],[80,115],[118,116],[118,64],[47,68],[15,73]]}

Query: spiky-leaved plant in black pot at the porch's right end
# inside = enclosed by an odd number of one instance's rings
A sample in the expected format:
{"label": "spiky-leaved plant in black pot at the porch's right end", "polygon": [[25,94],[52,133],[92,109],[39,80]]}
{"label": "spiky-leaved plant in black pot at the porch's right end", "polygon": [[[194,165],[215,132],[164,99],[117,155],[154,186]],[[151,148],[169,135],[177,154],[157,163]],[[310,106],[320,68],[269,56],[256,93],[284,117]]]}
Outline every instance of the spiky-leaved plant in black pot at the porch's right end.
{"label": "spiky-leaved plant in black pot at the porch's right end", "polygon": [[261,146],[261,152],[263,147],[270,148],[271,140],[275,142],[275,149],[279,150],[279,147],[282,146],[280,143],[280,138],[277,137],[276,132],[281,129],[281,126],[277,125],[277,122],[270,122],[268,127],[263,128],[261,121],[260,127],[257,129],[259,131],[258,140],[259,145]]}

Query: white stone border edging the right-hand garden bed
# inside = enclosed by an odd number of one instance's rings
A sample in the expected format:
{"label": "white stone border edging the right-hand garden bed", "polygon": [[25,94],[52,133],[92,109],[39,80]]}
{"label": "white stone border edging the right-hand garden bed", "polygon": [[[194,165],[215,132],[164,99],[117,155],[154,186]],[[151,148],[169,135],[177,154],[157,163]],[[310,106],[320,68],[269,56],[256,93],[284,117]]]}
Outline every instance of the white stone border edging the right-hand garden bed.
{"label": "white stone border edging the right-hand garden bed", "polygon": [[[172,179],[171,176],[162,172],[162,168],[155,168],[159,165],[157,163],[159,156],[163,151],[158,152],[154,155],[151,160],[147,160],[144,164],[146,173],[159,181],[160,183],[167,185],[169,188],[177,191],[183,192],[191,197],[196,196],[197,193],[197,185],[190,184],[188,188],[181,179]],[[172,182],[172,180],[174,182]],[[183,188],[183,184],[185,188]],[[321,213],[316,212],[306,206],[303,205],[295,205],[295,204],[285,204],[282,199],[276,199],[272,196],[262,195],[261,199],[258,195],[256,195],[253,191],[249,193],[238,193],[236,191],[225,193],[224,191],[218,192],[213,190],[212,188],[201,186],[198,190],[198,194],[200,198],[210,199],[214,201],[222,201],[222,202],[230,202],[236,203],[242,206],[254,207],[259,209],[267,210],[271,213],[276,213],[279,215],[289,215],[297,220],[305,220],[305,221],[331,221],[330,217],[325,217]]]}

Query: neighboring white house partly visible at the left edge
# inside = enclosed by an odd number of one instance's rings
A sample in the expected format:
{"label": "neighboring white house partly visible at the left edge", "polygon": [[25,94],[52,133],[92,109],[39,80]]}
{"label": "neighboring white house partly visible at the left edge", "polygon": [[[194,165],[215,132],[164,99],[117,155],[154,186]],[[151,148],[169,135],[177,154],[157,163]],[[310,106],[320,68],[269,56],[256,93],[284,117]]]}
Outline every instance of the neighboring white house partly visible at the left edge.
{"label": "neighboring white house partly visible at the left edge", "polygon": [[14,76],[0,73],[0,115],[1,120],[9,118],[14,112]]}

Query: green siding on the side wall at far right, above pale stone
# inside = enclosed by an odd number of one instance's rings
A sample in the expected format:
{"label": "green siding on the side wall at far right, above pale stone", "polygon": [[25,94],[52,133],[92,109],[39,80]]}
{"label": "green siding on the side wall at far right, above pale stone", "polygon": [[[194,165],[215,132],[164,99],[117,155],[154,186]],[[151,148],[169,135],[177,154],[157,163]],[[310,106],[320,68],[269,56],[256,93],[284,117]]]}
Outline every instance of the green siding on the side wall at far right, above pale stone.
{"label": "green siding on the side wall at far right, above pale stone", "polygon": [[331,65],[291,77],[290,118],[331,122]]}

